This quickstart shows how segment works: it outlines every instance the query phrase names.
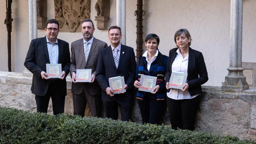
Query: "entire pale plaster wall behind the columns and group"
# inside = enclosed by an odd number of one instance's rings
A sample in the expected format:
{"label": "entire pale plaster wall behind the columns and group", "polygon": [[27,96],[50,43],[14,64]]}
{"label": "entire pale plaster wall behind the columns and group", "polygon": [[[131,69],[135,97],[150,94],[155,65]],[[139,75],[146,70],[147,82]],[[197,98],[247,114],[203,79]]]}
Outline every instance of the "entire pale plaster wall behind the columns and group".
{"label": "entire pale plaster wall behind the columns and group", "polygon": [[[0,0],[5,3],[5,0]],[[96,0],[91,0],[91,19],[94,21]],[[116,1],[110,1],[110,21],[108,27],[116,24]],[[136,0],[126,1],[126,45],[136,49]],[[243,1],[243,53],[242,61],[256,63],[256,1]],[[47,0],[47,18],[54,18],[54,1]],[[203,53],[208,70],[209,81],[205,85],[221,86],[229,67],[229,40],[230,40],[230,0],[162,0],[143,1],[146,11],[144,19],[144,36],[156,33],[160,37],[159,50],[168,55],[168,51],[175,47],[173,36],[175,31],[186,28],[193,39],[191,47]],[[13,1],[13,32],[12,32],[12,70],[22,72],[24,59],[29,48],[28,0]],[[0,18],[5,19],[5,4],[0,5]],[[3,23],[0,23],[1,56],[0,70],[7,71],[7,32]],[[108,31],[95,29],[94,36],[110,44],[107,38]],[[45,36],[43,30],[38,30],[38,37]],[[58,38],[71,44],[82,38],[81,33],[60,32]],[[145,49],[145,47],[144,47]]]}

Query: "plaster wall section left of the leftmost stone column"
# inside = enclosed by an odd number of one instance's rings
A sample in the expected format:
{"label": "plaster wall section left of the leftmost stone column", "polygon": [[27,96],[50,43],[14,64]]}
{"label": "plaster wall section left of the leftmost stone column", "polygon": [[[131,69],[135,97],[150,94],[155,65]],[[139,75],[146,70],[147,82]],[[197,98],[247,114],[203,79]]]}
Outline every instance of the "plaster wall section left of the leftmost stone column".
{"label": "plaster wall section left of the leftmost stone column", "polygon": [[[6,1],[0,0],[0,70],[8,71],[8,51],[7,51],[7,30],[3,24],[6,18]],[[11,52],[12,71],[22,72],[24,70],[24,58],[29,45],[29,6],[28,0],[14,0],[12,4],[12,32],[11,32]]]}

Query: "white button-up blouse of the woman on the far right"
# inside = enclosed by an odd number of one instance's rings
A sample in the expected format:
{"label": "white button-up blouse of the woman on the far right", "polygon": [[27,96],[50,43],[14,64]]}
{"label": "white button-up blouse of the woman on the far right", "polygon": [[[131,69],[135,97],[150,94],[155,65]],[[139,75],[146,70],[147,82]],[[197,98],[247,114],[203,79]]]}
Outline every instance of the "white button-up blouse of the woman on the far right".
{"label": "white button-up blouse of the woman on the far right", "polygon": [[[175,57],[172,64],[172,72],[183,72],[184,74],[188,74],[188,63],[189,63],[189,54],[183,59],[182,54],[179,49],[176,51],[178,54]],[[186,80],[187,81],[187,80]],[[170,92],[167,93],[167,96],[171,99],[192,99],[197,95],[191,96],[189,91],[182,91],[180,89],[171,88]]]}

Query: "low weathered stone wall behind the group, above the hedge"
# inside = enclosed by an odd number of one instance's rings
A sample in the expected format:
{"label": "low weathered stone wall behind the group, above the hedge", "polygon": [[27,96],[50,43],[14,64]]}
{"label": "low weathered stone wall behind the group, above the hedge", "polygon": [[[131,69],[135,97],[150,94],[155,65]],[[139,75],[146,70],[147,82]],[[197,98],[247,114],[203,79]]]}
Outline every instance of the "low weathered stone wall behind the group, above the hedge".
{"label": "low weathered stone wall behind the group, above the hedge", "polygon": [[[64,112],[72,114],[71,79],[70,77],[66,79],[67,96]],[[35,96],[30,91],[31,83],[31,74],[0,72],[0,106],[36,111]],[[51,102],[48,112],[52,114]],[[86,116],[90,115],[87,108]],[[102,115],[104,116],[104,113]],[[142,123],[135,98],[132,121]],[[167,111],[163,117],[163,123],[170,124]],[[198,131],[256,140],[256,90],[237,92],[220,90],[220,87],[203,86],[195,127]]]}

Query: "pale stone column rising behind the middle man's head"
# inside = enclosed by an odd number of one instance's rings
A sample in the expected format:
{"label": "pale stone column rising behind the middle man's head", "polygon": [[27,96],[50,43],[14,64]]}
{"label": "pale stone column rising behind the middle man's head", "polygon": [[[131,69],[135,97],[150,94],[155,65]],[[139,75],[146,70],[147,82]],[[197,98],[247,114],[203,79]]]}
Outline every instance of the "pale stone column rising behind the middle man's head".
{"label": "pale stone column rising behind the middle man's head", "polygon": [[126,45],[126,9],[125,0],[116,0],[116,25],[122,30],[121,43]]}

